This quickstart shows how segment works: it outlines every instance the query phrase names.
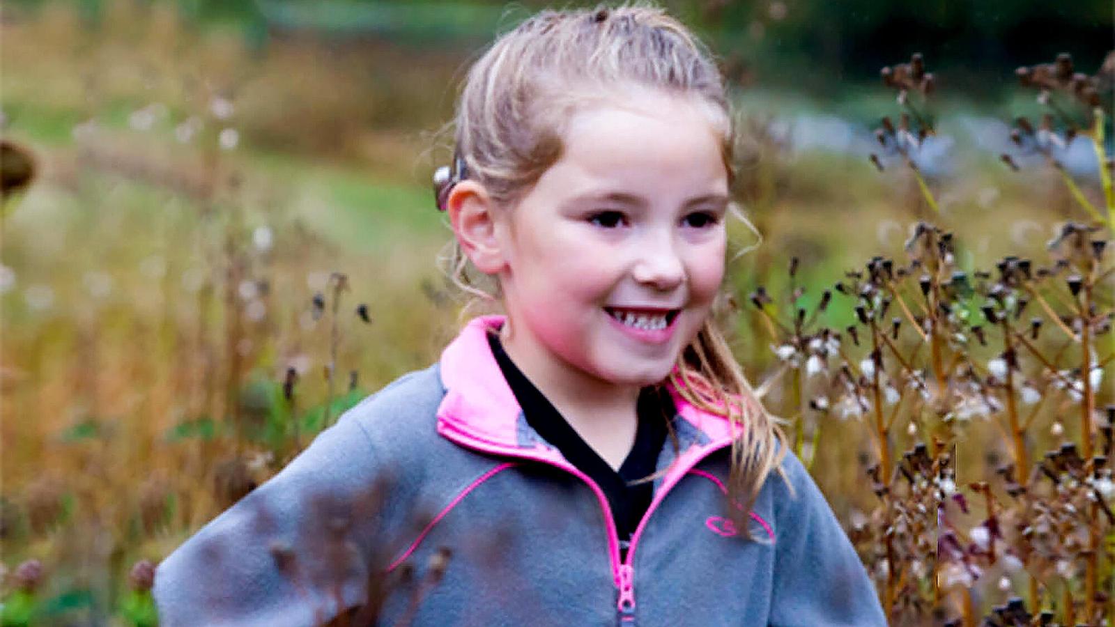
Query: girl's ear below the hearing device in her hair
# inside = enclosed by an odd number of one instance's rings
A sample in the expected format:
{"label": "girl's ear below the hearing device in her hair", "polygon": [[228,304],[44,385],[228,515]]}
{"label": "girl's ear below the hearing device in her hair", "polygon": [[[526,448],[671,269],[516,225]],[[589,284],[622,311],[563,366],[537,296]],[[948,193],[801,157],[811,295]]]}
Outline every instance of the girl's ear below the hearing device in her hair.
{"label": "girl's ear below the hearing device in her hair", "polygon": [[446,199],[446,212],[460,249],[476,269],[485,274],[503,270],[506,251],[498,235],[501,215],[487,190],[476,181],[460,181]]}

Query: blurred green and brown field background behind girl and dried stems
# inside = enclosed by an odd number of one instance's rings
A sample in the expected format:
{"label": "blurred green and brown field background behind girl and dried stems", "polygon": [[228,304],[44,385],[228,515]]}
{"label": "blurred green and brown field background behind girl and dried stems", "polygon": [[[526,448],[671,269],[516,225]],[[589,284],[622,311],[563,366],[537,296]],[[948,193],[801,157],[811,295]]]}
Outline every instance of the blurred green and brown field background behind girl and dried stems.
{"label": "blurred green and brown field background behind girl and dried stems", "polygon": [[[30,602],[21,591],[35,573],[17,567],[37,559],[38,620],[143,624],[133,563],[157,562],[355,401],[437,359],[463,302],[435,263],[452,238],[429,186],[448,161],[445,124],[469,61],[544,6],[0,7],[2,137],[35,163],[29,186],[6,183],[0,226],[6,616]],[[763,242],[731,262],[740,307],[724,318],[756,382],[779,372],[777,343],[748,309],[759,286],[776,298],[804,287],[801,302],[815,307],[873,255],[904,263],[918,221],[952,232],[967,270],[1008,254],[1048,263],[1060,224],[1095,218],[1060,172],[1011,143],[1015,118],[1045,110],[1015,68],[1070,54],[1098,81],[1112,154],[1109,2],[665,6],[709,42],[741,115],[737,191]],[[880,68],[914,52],[935,77],[925,106],[937,132],[914,161],[937,209],[873,134],[901,110]],[[1064,172],[1104,211],[1094,144],[1067,139]],[[4,161],[6,181],[13,171]],[[740,225],[733,235],[755,242]],[[1109,276],[1097,283],[1103,307],[1111,287]],[[836,298],[821,321],[844,329],[854,305]],[[1101,357],[1111,337],[1097,339]],[[985,364],[995,356],[981,350]],[[1115,402],[1102,364],[1096,407]],[[773,386],[767,404],[806,435],[798,450],[842,522],[862,525],[879,504],[864,489],[871,430],[811,413],[795,382]],[[1035,459],[1080,438],[1067,421],[1050,432],[1059,411],[1034,418]],[[957,483],[991,481],[1009,457],[993,419],[966,424]],[[905,423],[894,451],[925,440]],[[1021,579],[991,581],[969,596],[979,615],[1026,596]],[[958,615],[946,596],[927,620]]]}

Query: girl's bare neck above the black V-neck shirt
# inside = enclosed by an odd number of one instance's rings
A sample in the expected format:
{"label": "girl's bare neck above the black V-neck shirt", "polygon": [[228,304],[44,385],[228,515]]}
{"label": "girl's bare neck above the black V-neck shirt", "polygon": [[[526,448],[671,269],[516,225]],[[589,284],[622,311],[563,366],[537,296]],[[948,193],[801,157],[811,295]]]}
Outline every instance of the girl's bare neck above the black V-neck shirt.
{"label": "girl's bare neck above the black V-neck shirt", "polygon": [[634,444],[640,387],[590,376],[552,356],[536,354],[536,343],[517,339],[508,337],[504,325],[500,340],[511,360],[573,431],[613,470],[619,469]]}

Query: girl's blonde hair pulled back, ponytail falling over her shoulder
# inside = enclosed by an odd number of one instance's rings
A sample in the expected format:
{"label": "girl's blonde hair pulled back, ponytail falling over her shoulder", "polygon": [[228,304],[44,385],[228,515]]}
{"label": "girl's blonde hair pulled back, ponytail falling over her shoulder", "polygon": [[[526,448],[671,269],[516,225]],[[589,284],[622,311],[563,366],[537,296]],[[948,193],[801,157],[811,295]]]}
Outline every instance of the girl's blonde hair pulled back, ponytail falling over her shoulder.
{"label": "girl's blonde hair pulled back, ponytail falling over her shoulder", "polygon": [[[705,47],[676,19],[637,3],[545,10],[522,22],[473,65],[457,102],[455,164],[501,208],[513,206],[560,157],[563,124],[585,100],[609,102],[630,87],[695,96],[708,109],[733,177],[734,123],[724,81]],[[459,160],[459,161],[458,161]],[[734,212],[746,222],[738,211]],[[498,281],[471,276],[454,239],[443,258],[453,282],[474,298],[462,310],[502,299]],[[489,282],[487,289],[482,282]],[[667,382],[700,409],[728,418],[728,508],[745,537],[759,490],[780,462],[786,440],[765,411],[710,316],[678,357]],[[779,446],[780,443],[780,446]],[[787,482],[788,484],[788,482]]]}

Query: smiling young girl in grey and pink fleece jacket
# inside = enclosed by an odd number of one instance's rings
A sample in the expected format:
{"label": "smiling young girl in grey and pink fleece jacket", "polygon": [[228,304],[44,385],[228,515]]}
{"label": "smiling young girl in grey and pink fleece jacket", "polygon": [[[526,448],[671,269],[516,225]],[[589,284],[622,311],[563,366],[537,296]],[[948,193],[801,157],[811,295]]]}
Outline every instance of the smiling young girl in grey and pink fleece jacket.
{"label": "smiling young girl in grey and pink fleece jacket", "polygon": [[884,625],[710,319],[731,133],[661,10],[501,37],[436,182],[455,276],[491,277],[506,316],[169,556],[163,624]]}

